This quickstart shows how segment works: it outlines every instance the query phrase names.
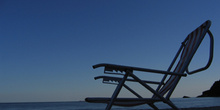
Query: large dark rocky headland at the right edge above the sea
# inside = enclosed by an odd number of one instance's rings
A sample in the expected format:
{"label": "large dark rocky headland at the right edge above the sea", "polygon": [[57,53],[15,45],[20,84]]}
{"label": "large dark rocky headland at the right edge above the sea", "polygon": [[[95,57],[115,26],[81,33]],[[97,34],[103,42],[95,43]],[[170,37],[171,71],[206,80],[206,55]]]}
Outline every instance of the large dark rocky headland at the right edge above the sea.
{"label": "large dark rocky headland at the right edge above the sea", "polygon": [[198,97],[220,97],[220,80],[215,81],[209,90],[204,91],[202,95]]}

